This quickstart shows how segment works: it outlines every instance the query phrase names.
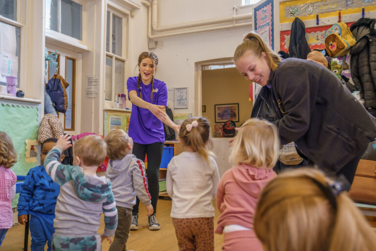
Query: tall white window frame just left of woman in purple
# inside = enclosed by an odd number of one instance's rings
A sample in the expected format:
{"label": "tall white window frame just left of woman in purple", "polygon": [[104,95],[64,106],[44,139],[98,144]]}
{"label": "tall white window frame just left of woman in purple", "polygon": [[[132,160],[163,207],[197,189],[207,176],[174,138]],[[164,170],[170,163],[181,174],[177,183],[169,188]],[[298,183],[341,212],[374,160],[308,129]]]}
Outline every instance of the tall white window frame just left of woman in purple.
{"label": "tall white window frame just left of woman in purple", "polygon": [[[115,60],[118,59],[118,60],[121,60],[124,62],[124,79],[123,79],[123,84],[124,84],[124,92],[125,94],[127,94],[126,90],[127,90],[127,86],[126,86],[126,76],[127,76],[127,64],[128,64],[128,34],[129,34],[129,22],[128,22],[128,18],[129,18],[129,15],[127,13],[124,13],[122,11],[120,11],[119,9],[117,9],[115,6],[112,6],[110,4],[107,5],[107,10],[106,10],[106,24],[105,24],[105,27],[107,29],[107,12],[110,12],[110,25],[109,25],[109,30],[110,30],[110,33],[109,33],[109,51],[106,50],[106,43],[107,41],[105,41],[105,44],[104,44],[104,51],[105,51],[105,58],[108,56],[108,57],[111,57],[112,58],[112,73],[111,73],[111,100],[105,100],[105,95],[103,95],[103,100],[104,100],[104,106],[105,107],[114,107],[114,101],[115,101],[115,68],[116,68],[116,65],[115,65]],[[121,32],[121,56],[119,55],[116,55],[114,53],[112,53],[112,15],[116,15],[117,17],[121,18],[121,28],[122,28],[122,32]],[[105,32],[105,34],[107,34],[107,30]],[[106,61],[106,60],[105,60]],[[104,63],[106,64],[106,62]],[[106,67],[106,66],[104,66]],[[103,86],[103,90],[106,89],[106,81],[104,81],[104,86]],[[128,94],[127,94],[128,96]]]}

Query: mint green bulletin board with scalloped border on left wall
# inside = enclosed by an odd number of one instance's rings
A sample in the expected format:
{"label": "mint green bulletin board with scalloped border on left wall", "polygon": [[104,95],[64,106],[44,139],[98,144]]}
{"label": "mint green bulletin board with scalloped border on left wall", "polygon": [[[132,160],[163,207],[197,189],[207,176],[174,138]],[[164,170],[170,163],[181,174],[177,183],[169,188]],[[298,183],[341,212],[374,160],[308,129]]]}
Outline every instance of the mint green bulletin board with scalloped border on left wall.
{"label": "mint green bulletin board with scalloped border on left wall", "polygon": [[[38,136],[38,108],[32,105],[0,103],[0,121],[0,131],[9,135],[17,151],[17,162],[11,170],[16,175],[26,175],[30,168],[40,164],[38,163],[40,148],[32,145],[32,142],[36,142]],[[26,150],[26,141],[29,143],[28,151]],[[36,146],[38,146],[38,143],[36,143]],[[17,194],[12,201],[12,207],[17,206],[18,197]]]}

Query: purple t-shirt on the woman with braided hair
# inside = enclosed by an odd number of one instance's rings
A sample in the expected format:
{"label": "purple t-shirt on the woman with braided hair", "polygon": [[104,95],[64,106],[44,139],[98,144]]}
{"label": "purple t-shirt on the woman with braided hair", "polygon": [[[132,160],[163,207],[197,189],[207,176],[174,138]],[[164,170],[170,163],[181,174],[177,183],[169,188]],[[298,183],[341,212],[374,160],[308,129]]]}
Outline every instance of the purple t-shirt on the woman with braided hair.
{"label": "purple t-shirt on the woman with braided hair", "polygon": [[[130,91],[136,91],[137,96],[140,97],[139,89],[137,88],[138,76],[129,77],[127,80],[128,97]],[[154,79],[154,93],[153,100],[150,100],[151,83],[144,85],[141,80],[141,94],[142,100],[158,105],[167,105],[167,86],[158,79]],[[155,117],[148,109],[138,107],[132,104],[131,119],[129,121],[128,129],[129,137],[134,142],[139,144],[151,144],[156,142],[164,142],[163,123]]]}

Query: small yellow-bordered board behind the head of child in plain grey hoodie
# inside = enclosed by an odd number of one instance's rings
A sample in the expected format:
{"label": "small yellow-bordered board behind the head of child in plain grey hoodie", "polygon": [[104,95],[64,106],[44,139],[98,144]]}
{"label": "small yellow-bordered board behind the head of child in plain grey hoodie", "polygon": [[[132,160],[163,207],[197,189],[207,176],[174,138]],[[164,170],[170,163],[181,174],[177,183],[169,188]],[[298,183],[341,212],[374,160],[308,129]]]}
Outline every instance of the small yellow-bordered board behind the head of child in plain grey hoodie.
{"label": "small yellow-bordered board behind the head of child in plain grey hoodie", "polygon": [[130,112],[121,111],[104,111],[104,136],[112,129],[122,129],[128,133],[129,121],[131,119]]}

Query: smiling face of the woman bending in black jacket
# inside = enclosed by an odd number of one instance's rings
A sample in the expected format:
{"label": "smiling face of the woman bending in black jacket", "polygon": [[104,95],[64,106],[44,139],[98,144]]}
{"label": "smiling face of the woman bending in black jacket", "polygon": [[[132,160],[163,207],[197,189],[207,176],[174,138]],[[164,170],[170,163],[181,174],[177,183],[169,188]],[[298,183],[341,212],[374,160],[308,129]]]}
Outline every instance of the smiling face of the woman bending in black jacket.
{"label": "smiling face of the woman bending in black jacket", "polygon": [[261,86],[265,86],[268,83],[270,66],[266,61],[265,52],[262,52],[261,56],[257,57],[251,50],[248,50],[235,61],[235,66],[247,80],[256,82]]}

